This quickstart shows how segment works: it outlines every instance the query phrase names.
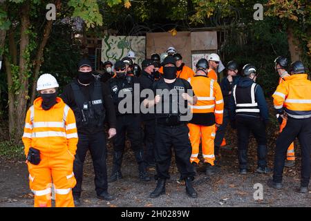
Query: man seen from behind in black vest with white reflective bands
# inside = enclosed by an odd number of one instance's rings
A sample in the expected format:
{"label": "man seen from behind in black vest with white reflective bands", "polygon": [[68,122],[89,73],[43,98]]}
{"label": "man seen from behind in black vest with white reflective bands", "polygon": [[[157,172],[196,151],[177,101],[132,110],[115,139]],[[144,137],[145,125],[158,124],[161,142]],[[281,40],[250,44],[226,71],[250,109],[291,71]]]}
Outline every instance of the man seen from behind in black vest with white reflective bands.
{"label": "man seen from behind in black vest with white reflective bands", "polygon": [[246,64],[242,70],[243,78],[238,81],[232,91],[229,104],[229,115],[232,125],[238,131],[238,162],[240,174],[247,174],[247,148],[249,133],[252,132],[256,142],[258,155],[257,173],[270,173],[267,168],[267,135],[265,127],[269,122],[267,103],[261,86],[255,83],[256,68]]}

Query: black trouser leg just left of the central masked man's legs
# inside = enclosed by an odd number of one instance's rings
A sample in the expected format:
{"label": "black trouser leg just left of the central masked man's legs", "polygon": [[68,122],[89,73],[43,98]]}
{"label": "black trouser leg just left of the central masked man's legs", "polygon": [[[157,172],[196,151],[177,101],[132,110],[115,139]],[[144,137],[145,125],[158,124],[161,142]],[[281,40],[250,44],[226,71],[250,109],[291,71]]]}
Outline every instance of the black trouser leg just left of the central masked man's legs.
{"label": "black trouser leg just left of the central masked man's legs", "polygon": [[144,144],[146,146],[144,158],[147,164],[154,164],[154,146],[156,134],[156,119],[144,121]]}

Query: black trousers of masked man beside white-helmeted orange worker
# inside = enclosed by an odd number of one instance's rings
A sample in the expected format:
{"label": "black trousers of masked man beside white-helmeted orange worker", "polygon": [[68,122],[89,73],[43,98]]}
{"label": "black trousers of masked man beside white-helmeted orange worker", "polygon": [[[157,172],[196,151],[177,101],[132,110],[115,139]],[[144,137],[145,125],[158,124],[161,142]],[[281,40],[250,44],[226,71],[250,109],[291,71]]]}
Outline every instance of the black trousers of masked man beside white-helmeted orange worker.
{"label": "black trousers of masked man beside white-helmeted orange worker", "polygon": [[91,135],[79,134],[79,142],[77,144],[77,152],[75,153],[75,161],[73,162],[73,173],[77,184],[73,188],[73,195],[78,197],[82,191],[83,164],[86,152],[90,150],[93,160],[95,172],[95,191],[100,195],[108,189],[107,184],[107,168],[106,168],[106,137],[104,132]]}

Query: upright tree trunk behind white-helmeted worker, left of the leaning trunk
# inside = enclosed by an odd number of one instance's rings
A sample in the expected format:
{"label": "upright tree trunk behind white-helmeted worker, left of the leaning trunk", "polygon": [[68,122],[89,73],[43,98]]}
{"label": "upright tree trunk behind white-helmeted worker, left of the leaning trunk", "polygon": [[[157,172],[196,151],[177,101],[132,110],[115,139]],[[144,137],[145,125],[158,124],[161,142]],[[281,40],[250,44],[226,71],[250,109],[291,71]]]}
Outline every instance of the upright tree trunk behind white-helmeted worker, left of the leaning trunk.
{"label": "upright tree trunk behind white-helmeted worker, left of the leaning trunk", "polygon": [[20,39],[20,46],[19,46],[19,83],[21,87],[19,88],[18,95],[17,95],[17,137],[21,137],[23,134],[23,125],[25,122],[26,116],[26,108],[27,108],[27,100],[28,100],[28,72],[29,72],[29,63],[30,58],[28,53],[29,45],[29,28],[30,28],[30,19],[29,19],[29,10],[30,10],[30,3],[25,1],[21,8],[21,39]]}

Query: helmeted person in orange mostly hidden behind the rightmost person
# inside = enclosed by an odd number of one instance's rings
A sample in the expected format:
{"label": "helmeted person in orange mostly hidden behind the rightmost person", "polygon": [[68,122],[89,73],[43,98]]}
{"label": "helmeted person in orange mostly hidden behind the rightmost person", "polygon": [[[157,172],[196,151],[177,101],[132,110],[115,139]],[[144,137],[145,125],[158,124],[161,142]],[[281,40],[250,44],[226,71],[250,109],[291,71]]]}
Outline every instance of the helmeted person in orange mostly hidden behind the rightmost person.
{"label": "helmeted person in orange mostly hidden behind the rightmost person", "polygon": [[[274,64],[275,70],[280,76],[279,84],[282,84],[283,81],[285,81],[288,77],[290,77],[288,72],[285,70],[285,68],[288,67],[288,59],[283,56],[276,57],[276,59],[274,60]],[[276,117],[278,118],[280,123],[280,133],[281,133],[283,131],[283,128],[285,128],[286,126],[287,120],[283,119],[280,115],[276,115]],[[292,144],[290,144],[290,146],[288,147],[285,166],[286,167],[295,166],[294,142],[292,142]]]}

